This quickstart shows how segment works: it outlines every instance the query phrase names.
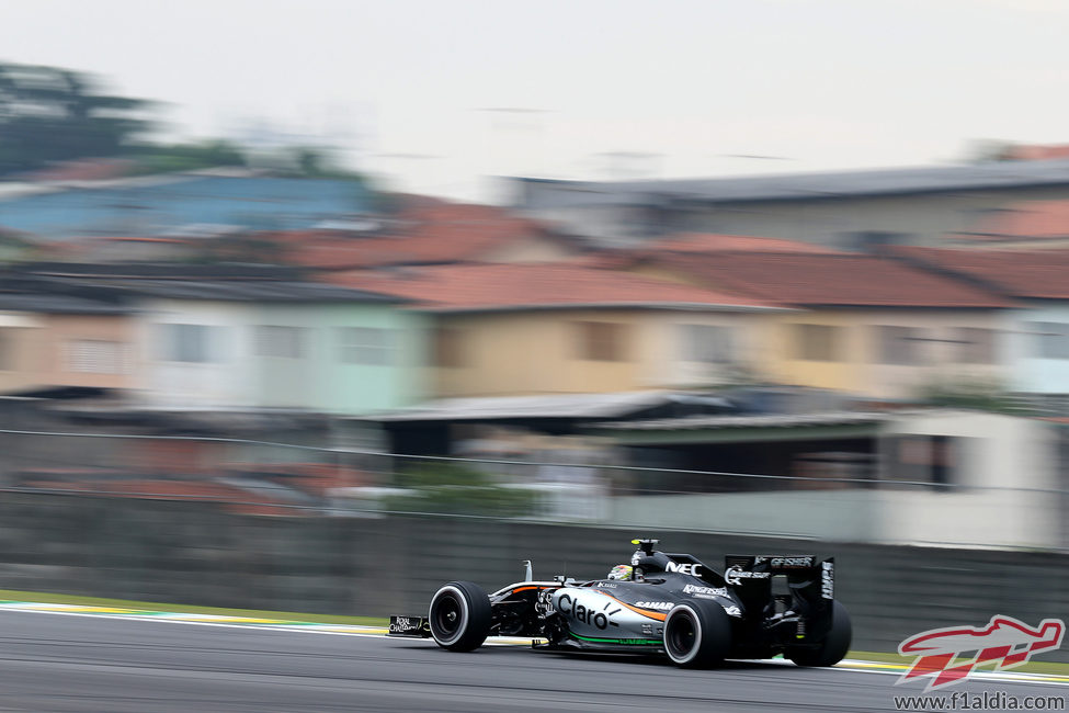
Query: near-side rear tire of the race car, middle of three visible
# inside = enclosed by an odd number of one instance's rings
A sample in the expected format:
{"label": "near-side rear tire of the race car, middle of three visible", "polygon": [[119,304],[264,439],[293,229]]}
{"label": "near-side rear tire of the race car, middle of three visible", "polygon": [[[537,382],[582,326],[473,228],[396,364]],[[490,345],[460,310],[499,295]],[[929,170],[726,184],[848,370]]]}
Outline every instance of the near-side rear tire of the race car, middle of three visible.
{"label": "near-side rear tire of the race car, middle of three visible", "polygon": [[708,668],[731,652],[731,620],[712,601],[676,604],[664,618],[664,653],[681,668]]}

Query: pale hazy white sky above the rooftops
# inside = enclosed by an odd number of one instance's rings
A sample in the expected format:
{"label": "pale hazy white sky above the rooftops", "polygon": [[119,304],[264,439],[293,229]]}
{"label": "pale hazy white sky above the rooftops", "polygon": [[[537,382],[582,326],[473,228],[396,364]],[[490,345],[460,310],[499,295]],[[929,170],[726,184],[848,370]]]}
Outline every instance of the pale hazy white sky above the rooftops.
{"label": "pale hazy white sky above the rooftops", "polygon": [[0,59],[98,72],[189,136],[329,136],[394,188],[469,199],[496,173],[1069,143],[1067,36],[1064,0],[0,0]]}

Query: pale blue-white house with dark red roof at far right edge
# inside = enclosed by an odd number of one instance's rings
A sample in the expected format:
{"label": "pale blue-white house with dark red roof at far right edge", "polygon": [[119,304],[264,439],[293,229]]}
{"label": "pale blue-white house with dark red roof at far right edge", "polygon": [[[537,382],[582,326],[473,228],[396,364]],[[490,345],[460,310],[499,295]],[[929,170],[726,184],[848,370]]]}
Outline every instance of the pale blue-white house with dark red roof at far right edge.
{"label": "pale blue-white house with dark red roof at far right edge", "polygon": [[1007,383],[1069,414],[1069,250],[901,248],[892,254],[935,274],[1012,298],[1000,361]]}

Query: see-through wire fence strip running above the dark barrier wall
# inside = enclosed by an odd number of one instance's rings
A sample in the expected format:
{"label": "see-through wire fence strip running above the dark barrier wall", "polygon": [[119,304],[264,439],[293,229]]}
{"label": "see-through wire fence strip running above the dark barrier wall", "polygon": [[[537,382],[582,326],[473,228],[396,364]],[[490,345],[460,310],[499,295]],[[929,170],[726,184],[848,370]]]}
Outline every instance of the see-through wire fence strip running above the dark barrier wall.
{"label": "see-through wire fence strip running above the dark barrier wall", "polygon": [[[200,435],[0,430],[7,493],[213,502],[236,514],[390,514],[874,544],[1067,551],[1069,491],[624,465],[606,452],[432,457]],[[570,457],[571,461],[543,460]],[[1053,480],[1057,485],[1057,480]]]}

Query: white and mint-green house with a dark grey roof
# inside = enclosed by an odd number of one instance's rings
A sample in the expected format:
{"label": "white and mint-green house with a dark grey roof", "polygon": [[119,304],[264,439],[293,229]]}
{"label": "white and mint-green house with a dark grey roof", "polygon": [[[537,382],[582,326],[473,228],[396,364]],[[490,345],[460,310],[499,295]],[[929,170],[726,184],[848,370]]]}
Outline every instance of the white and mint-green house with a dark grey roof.
{"label": "white and mint-green house with a dark grey roof", "polygon": [[[69,359],[94,369],[105,356],[120,362],[109,367],[121,376],[91,385],[129,388],[144,405],[362,414],[423,398],[424,318],[395,296],[248,265],[57,263],[19,274],[43,304],[76,288],[121,299],[111,332],[92,339],[100,318],[77,315],[53,343],[76,335],[84,343]],[[54,359],[59,349],[42,353]]]}

